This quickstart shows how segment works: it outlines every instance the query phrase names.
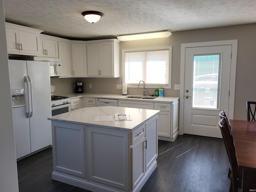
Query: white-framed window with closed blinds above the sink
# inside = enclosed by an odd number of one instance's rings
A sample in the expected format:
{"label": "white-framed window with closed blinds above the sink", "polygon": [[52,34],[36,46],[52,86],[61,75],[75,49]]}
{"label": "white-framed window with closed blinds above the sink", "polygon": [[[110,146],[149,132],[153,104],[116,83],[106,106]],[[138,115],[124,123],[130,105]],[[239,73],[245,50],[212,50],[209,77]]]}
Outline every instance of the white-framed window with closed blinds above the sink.
{"label": "white-framed window with closed blinds above the sink", "polygon": [[123,50],[124,83],[170,87],[172,47]]}

